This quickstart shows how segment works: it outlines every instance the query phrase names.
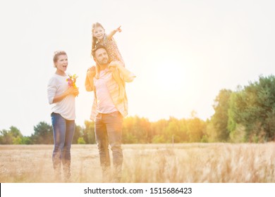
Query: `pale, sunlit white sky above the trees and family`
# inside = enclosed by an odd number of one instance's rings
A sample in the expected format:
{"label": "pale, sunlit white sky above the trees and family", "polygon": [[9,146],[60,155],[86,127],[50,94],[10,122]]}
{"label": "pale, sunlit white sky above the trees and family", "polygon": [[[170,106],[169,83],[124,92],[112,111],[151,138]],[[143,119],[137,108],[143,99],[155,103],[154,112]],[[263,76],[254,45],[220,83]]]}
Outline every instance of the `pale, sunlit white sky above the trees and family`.
{"label": "pale, sunlit white sky above the trees and family", "polygon": [[54,51],[68,54],[78,75],[77,125],[90,120],[93,94],[85,91],[92,23],[114,35],[126,68],[128,115],[149,121],[202,120],[214,114],[221,89],[236,90],[259,75],[274,75],[275,1],[263,0],[11,0],[0,1],[0,130],[25,136],[51,124],[47,83]]}

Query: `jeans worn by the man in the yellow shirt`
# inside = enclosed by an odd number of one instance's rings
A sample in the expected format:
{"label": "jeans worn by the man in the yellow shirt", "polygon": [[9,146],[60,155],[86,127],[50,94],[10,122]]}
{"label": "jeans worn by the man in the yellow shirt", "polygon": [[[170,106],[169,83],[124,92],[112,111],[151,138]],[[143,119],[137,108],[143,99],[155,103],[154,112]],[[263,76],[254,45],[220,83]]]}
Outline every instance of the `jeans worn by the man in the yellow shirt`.
{"label": "jeans worn by the man in the yellow shirt", "polygon": [[121,179],[123,153],[121,148],[123,116],[116,111],[110,114],[99,113],[95,118],[95,135],[99,150],[100,165],[102,166],[103,179],[109,181],[111,167],[109,144],[113,154],[114,180]]}

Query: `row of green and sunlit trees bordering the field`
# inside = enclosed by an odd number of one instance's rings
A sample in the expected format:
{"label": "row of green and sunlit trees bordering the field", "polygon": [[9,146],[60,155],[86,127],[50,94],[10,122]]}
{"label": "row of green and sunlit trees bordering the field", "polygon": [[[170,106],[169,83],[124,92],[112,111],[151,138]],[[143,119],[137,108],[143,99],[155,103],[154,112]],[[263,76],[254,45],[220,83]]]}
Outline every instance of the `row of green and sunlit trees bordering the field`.
{"label": "row of green and sunlit trees bordering the field", "polygon": [[[214,99],[214,115],[150,122],[130,116],[123,121],[123,144],[190,142],[266,142],[275,139],[275,77],[259,76],[236,91],[221,89]],[[0,131],[0,144],[53,144],[52,127],[39,122],[31,136],[11,126]],[[75,125],[73,144],[95,144],[94,122]]]}

